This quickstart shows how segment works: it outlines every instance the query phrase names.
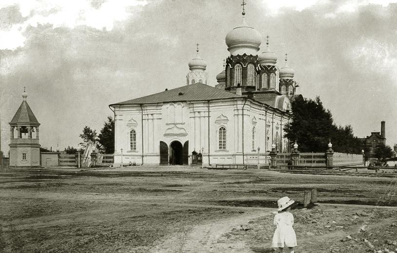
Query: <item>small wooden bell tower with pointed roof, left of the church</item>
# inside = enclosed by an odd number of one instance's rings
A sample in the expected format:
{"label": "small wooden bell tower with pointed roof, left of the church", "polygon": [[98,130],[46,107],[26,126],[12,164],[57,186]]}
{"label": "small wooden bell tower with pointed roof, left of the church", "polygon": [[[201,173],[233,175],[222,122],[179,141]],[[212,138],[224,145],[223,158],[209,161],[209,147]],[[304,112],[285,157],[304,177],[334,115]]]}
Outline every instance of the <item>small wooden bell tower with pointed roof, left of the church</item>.
{"label": "small wooden bell tower with pointed roof, left of the church", "polygon": [[38,143],[38,123],[35,114],[26,101],[23,90],[22,103],[10,124],[10,166],[40,166],[40,144]]}

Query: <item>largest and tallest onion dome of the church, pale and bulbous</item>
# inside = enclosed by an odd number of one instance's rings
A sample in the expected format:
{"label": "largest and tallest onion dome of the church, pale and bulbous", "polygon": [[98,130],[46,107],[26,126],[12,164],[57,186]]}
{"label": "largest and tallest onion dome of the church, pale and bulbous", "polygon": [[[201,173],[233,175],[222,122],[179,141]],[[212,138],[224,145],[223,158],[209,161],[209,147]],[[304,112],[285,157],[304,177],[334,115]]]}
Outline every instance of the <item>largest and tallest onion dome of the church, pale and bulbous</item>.
{"label": "largest and tallest onion dome of the church, pale and bulbous", "polygon": [[243,17],[243,22],[227,33],[225,41],[230,53],[242,49],[238,51],[239,54],[256,54],[262,43],[262,36],[257,30],[248,26]]}

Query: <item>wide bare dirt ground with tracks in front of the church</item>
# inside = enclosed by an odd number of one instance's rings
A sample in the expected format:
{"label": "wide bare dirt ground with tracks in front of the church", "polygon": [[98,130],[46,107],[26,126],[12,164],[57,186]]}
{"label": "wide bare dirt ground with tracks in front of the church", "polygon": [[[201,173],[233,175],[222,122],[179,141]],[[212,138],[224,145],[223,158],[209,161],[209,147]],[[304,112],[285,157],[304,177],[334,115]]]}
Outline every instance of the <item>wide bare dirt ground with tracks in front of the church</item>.
{"label": "wide bare dirt ground with tracks in front of the church", "polygon": [[[276,201],[296,252],[397,252],[397,179],[186,167],[0,172],[0,252],[272,252]],[[349,235],[349,237],[346,237]]]}

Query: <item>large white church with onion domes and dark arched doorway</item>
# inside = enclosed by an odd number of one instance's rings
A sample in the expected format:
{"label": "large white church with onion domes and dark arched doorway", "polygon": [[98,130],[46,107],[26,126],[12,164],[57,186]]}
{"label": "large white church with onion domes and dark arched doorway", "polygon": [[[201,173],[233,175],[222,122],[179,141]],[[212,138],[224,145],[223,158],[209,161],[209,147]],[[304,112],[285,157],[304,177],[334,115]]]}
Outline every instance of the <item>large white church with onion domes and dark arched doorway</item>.
{"label": "large white church with onion domes and dark arched doorway", "polygon": [[[284,126],[298,84],[294,70],[279,68],[262,36],[244,19],[226,36],[225,69],[207,85],[207,63],[189,62],[187,84],[110,105],[114,111],[114,163],[190,164],[192,153],[205,165],[244,163],[247,154],[289,150]],[[301,96],[301,95],[299,95]]]}

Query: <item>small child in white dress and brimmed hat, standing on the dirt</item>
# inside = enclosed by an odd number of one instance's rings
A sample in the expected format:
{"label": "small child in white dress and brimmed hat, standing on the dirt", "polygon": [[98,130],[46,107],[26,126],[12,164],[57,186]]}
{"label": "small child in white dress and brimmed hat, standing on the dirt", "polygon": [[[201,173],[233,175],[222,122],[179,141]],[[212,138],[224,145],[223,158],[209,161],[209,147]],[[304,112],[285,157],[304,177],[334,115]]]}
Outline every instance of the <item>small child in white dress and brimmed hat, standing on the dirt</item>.
{"label": "small child in white dress and brimmed hat, standing on the dirt", "polygon": [[277,200],[279,212],[274,216],[274,225],[277,226],[273,235],[272,248],[276,252],[283,252],[284,246],[288,247],[290,253],[294,253],[294,247],[297,246],[295,231],[292,228],[294,216],[288,212],[288,209],[295,201],[288,197]]}

